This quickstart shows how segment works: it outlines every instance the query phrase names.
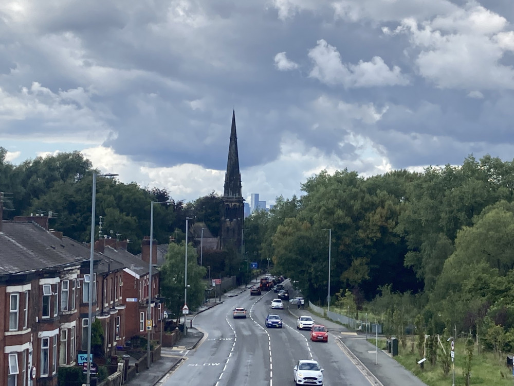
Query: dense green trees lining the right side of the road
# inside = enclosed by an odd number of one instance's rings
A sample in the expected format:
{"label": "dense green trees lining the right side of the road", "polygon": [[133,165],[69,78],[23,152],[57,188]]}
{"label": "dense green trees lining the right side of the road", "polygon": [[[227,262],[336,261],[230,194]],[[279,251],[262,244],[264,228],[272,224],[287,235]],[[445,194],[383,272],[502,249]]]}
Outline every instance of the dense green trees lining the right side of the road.
{"label": "dense green trees lining the right side of the road", "polygon": [[420,314],[427,331],[456,329],[514,349],[513,189],[514,162],[490,156],[371,178],[322,171],[302,184],[301,198],[278,198],[247,219],[255,234],[246,252],[272,259],[326,304],[331,229],[333,304],[350,294],[358,312],[373,301],[397,335]]}

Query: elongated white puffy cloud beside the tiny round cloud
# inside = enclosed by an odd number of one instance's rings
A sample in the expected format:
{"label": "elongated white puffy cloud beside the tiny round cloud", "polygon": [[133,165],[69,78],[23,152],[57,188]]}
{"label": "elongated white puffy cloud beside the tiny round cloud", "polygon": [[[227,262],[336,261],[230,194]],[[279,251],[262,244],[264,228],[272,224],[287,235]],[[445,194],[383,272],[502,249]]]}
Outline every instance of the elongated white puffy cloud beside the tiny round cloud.
{"label": "elongated white puffy cloud beside the tiny round cloud", "polygon": [[309,50],[309,58],[314,67],[309,76],[330,85],[342,84],[346,88],[406,85],[409,80],[401,74],[398,66],[392,69],[383,59],[375,56],[370,62],[359,61],[358,64],[343,64],[336,47],[325,40],[318,40],[318,45]]}

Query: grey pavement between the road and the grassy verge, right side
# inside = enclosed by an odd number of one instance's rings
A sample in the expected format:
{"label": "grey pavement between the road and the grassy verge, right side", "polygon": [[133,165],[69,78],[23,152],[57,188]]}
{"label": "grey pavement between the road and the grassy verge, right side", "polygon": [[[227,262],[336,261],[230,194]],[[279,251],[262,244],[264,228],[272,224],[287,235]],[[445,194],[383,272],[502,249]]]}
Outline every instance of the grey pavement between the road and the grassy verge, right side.
{"label": "grey pavement between the road and the grassy verge, right side", "polygon": [[316,323],[324,324],[328,331],[338,339],[338,344],[346,355],[363,370],[364,375],[373,384],[377,386],[427,386],[387,353],[381,349],[377,352],[377,347],[366,341],[365,335],[349,331],[336,322],[315,315],[307,308],[298,309],[296,305],[290,304],[289,312],[297,318],[300,315],[307,315],[313,317]]}

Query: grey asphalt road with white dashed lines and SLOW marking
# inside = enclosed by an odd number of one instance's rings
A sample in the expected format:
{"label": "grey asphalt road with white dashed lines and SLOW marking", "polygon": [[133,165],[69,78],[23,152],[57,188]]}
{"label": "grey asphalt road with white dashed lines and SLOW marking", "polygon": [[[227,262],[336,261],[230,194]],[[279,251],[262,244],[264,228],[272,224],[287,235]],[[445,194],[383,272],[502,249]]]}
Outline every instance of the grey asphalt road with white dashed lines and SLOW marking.
{"label": "grey asphalt road with white dashed lines and SLOW marking", "polygon": [[[194,325],[206,332],[204,341],[188,353],[187,360],[164,385],[293,385],[292,369],[301,359],[320,363],[324,385],[370,384],[339,348],[335,339],[338,331],[330,333],[328,343],[311,342],[309,331],[296,329],[296,318],[287,308],[270,309],[276,295],[270,291],[262,296],[250,296],[247,290],[198,314]],[[233,319],[235,307],[245,307],[248,318]],[[268,313],[281,315],[283,328],[265,328]]]}

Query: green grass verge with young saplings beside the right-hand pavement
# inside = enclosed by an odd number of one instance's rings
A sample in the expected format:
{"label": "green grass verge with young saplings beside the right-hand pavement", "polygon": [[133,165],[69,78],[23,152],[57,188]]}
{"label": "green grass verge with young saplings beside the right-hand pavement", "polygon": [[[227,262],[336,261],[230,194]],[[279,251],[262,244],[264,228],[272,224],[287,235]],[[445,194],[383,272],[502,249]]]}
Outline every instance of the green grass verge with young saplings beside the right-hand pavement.
{"label": "green grass verge with young saplings beside the right-hand pavement", "polygon": [[[414,338],[416,339],[416,338]],[[375,344],[375,339],[368,339],[372,344]],[[379,339],[378,347],[386,347],[386,340]],[[455,341],[455,385],[465,385],[464,376],[462,374],[462,366],[464,364],[464,341]],[[414,353],[411,352],[412,338],[409,337],[406,348],[403,349],[401,344],[398,347],[398,356],[394,357],[398,363],[402,364],[407,370],[416,375],[419,379],[429,386],[449,386],[452,382],[452,370],[445,376],[443,374],[440,363],[435,366],[425,362],[425,369],[421,370],[416,359],[420,359],[417,354],[417,349],[414,347]],[[439,347],[440,348],[440,347]],[[439,355],[444,355],[442,350],[439,350]],[[512,386],[514,384],[514,377],[512,371],[508,369],[505,364],[506,354],[500,358],[494,357],[492,353],[477,354],[476,350],[473,353],[471,361],[471,385],[483,386]],[[502,378],[502,372],[505,378]]]}

